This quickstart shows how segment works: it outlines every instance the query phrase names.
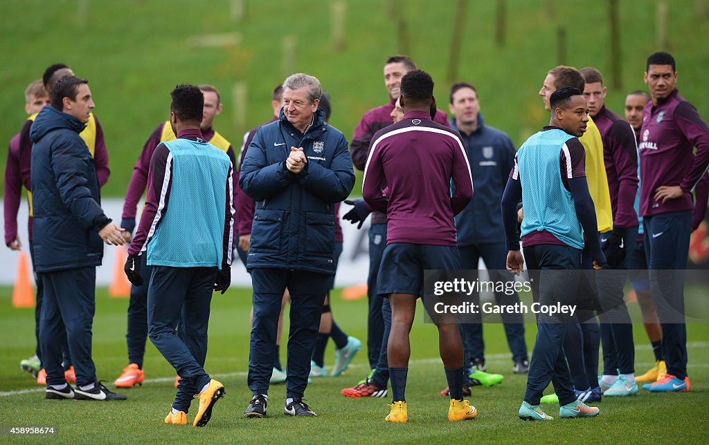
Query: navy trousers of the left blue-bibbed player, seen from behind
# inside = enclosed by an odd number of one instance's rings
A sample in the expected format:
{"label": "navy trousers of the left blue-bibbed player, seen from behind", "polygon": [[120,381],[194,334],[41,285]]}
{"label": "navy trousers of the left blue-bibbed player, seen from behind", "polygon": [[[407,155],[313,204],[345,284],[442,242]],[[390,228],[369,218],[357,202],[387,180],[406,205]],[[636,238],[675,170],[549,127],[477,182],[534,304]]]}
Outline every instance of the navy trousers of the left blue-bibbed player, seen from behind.
{"label": "navy trousers of the left blue-bibbed player, seen from behind", "polygon": [[179,411],[187,412],[192,396],[210,381],[203,366],[216,273],[216,267],[152,266],[147,290],[148,335],[181,377],[172,404]]}

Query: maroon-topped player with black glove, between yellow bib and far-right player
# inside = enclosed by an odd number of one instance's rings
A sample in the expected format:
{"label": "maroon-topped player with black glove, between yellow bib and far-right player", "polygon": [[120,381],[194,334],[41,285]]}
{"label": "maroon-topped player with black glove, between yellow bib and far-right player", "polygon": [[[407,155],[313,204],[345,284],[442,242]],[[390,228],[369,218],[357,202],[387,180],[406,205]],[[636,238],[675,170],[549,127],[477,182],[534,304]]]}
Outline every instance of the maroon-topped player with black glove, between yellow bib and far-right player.
{"label": "maroon-topped player with black glove, between yellow bib and far-right player", "polygon": [[601,392],[606,396],[637,394],[635,384],[635,342],[632,320],[623,301],[630,253],[635,250],[637,213],[637,144],[632,127],[605,106],[608,88],[603,85],[601,71],[593,67],[581,69],[586,85],[584,98],[588,114],[593,117],[603,138],[605,175],[608,178],[613,209],[613,231],[601,233],[603,253],[608,266],[596,274],[598,300],[602,311],[603,377]]}

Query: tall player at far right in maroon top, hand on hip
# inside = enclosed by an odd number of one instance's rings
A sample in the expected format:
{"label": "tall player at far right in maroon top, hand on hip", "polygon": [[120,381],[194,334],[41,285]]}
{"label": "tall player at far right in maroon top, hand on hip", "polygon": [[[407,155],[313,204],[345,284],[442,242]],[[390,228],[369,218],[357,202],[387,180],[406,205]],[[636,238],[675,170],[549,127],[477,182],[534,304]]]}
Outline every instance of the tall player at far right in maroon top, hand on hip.
{"label": "tall player at far right in maroon top, hand on hip", "polygon": [[677,78],[671,54],[656,52],[647,58],[644,81],[652,102],[642,112],[640,130],[640,215],[667,366],[664,378],[643,385],[652,392],[690,389],[683,271],[692,230],[691,192],[709,166],[709,127],[679,95]]}

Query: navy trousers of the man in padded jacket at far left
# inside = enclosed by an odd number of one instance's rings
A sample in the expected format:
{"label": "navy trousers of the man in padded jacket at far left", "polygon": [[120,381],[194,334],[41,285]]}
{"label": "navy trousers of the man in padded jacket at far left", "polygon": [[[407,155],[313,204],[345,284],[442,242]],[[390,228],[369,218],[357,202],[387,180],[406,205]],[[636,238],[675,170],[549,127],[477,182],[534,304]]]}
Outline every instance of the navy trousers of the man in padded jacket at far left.
{"label": "navy trousers of the man in padded jacket at far left", "polygon": [[42,363],[48,385],[66,383],[62,345],[67,339],[77,385],[96,381],[91,359],[91,328],[96,312],[96,267],[42,272],[43,298],[40,315]]}

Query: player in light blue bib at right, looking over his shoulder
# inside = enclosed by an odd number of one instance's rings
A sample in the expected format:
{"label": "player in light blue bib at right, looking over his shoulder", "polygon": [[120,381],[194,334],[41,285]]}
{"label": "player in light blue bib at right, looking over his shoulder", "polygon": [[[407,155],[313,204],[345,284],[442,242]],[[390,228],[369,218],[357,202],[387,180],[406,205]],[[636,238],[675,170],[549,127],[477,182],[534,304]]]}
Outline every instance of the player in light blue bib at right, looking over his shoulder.
{"label": "player in light blue bib at right, looking over his shoulder", "polygon": [[[520,147],[501,202],[509,249],[507,269],[520,274],[527,262],[535,302],[574,304],[573,289],[580,279],[586,243],[593,267],[605,264],[586,182],[586,151],[578,139],[586,132],[588,106],[578,88],[559,88],[549,95],[548,103],[552,110],[549,126]],[[521,233],[524,258],[517,231],[520,200],[525,206]],[[569,321],[563,314],[537,315],[527,391],[518,412],[522,420],[553,420],[540,405],[549,381],[559,397],[559,417],[598,415],[598,408],[586,406],[574,393],[563,349]]]}

